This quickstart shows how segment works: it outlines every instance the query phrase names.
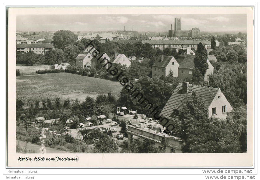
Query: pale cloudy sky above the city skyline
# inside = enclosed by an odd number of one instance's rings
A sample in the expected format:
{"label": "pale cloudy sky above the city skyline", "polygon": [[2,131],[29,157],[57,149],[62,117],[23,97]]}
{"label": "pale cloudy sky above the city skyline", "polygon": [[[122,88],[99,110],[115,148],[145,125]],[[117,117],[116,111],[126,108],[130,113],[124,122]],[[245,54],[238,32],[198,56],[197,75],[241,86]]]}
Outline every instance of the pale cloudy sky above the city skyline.
{"label": "pale cloudy sky above the city skyline", "polygon": [[181,29],[198,27],[207,32],[246,32],[246,14],[62,14],[18,15],[17,31],[111,31],[167,32],[181,17]]}

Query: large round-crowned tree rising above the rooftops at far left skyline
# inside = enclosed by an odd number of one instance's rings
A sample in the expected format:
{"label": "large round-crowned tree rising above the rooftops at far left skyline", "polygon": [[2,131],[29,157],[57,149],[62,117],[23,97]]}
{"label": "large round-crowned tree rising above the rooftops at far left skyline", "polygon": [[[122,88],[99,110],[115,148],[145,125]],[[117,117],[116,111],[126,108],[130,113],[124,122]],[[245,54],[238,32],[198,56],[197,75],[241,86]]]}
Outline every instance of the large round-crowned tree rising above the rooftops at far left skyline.
{"label": "large round-crowned tree rising above the rooftops at far left skyline", "polygon": [[56,31],[53,35],[53,45],[56,48],[64,49],[66,46],[73,44],[78,39],[78,36],[68,30]]}

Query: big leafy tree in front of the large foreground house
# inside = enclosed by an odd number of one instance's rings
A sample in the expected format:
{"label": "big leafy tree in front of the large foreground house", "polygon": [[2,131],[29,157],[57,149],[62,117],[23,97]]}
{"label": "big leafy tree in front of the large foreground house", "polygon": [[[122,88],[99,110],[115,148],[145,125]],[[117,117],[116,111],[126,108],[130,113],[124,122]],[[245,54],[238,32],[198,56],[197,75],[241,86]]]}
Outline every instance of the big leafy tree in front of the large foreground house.
{"label": "big leafy tree in front of the large foreground house", "polygon": [[208,118],[208,109],[196,91],[187,100],[176,120],[176,132],[184,142],[184,153],[238,153],[240,145],[230,127],[217,118]]}

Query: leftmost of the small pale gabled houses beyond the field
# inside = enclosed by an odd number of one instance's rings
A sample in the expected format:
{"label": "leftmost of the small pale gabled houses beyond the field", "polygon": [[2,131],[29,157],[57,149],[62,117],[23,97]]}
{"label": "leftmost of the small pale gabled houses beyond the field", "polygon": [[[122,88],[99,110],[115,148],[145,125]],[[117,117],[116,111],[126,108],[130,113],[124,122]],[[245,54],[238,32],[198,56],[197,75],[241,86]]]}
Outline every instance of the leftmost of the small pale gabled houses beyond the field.
{"label": "leftmost of the small pale gabled houses beyond the field", "polygon": [[84,51],[81,51],[75,58],[76,66],[79,68],[90,68],[93,51],[96,50],[92,45],[88,46]]}

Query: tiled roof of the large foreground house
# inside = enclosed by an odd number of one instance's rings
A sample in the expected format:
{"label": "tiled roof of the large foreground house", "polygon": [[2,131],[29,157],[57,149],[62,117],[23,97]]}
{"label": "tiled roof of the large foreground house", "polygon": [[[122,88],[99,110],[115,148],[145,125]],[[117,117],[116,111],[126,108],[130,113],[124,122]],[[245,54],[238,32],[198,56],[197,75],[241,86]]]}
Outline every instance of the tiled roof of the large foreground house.
{"label": "tiled roof of the large foreground house", "polygon": [[163,107],[163,110],[161,111],[161,114],[163,117],[173,119],[173,112],[174,109],[177,109],[179,111],[182,110],[183,104],[191,99],[192,91],[196,91],[197,94],[199,94],[205,103],[205,106],[208,108],[216,96],[219,88],[212,88],[212,87],[206,87],[206,86],[197,86],[193,84],[189,84],[189,92],[187,94],[182,94],[182,82],[178,84],[176,89],[174,89],[174,92],[172,93],[170,99]]}

